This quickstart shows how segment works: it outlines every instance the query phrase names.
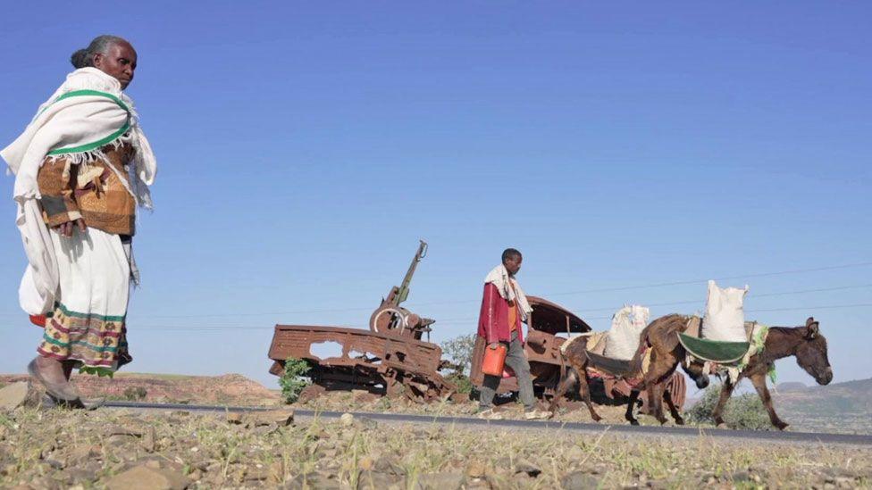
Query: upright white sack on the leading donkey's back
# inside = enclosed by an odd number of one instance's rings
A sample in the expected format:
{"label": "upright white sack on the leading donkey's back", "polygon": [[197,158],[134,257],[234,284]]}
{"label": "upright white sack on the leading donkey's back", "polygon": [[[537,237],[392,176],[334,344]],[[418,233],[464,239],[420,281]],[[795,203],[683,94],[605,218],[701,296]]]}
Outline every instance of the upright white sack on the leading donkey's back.
{"label": "upright white sack on the leading donkey's back", "polygon": [[745,335],[745,312],[742,310],[748,286],[717,287],[709,281],[709,300],[702,319],[702,338],[725,342],[748,342]]}

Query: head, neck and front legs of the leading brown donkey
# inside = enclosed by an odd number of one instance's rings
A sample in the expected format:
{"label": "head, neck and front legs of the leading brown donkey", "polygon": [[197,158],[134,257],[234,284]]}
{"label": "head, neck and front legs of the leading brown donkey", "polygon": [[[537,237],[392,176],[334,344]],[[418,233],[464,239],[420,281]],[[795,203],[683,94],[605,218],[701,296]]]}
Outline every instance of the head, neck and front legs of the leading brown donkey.
{"label": "head, neck and front legs of the leading brown donkey", "polygon": [[766,407],[769,421],[779,430],[787,428],[788,424],[778,418],[775,408],[772,406],[772,397],[766,386],[767,372],[773,368],[775,361],[785,357],[796,356],[796,363],[809,373],[818,385],[828,385],[833,380],[833,368],[830,366],[829,357],[826,353],[826,337],[820,334],[818,321],[813,317],[806,320],[803,327],[771,327],[766,337],[763,352],[751,356],[748,365],[739,374],[735,383],[731,383],[725,377],[721,387],[721,396],[717,400],[715,410],[711,412],[712,418],[718,427],[723,427],[724,406],[734,387],[742,378],[749,378],[751,384],[757,389],[760,401]]}

